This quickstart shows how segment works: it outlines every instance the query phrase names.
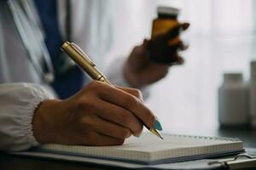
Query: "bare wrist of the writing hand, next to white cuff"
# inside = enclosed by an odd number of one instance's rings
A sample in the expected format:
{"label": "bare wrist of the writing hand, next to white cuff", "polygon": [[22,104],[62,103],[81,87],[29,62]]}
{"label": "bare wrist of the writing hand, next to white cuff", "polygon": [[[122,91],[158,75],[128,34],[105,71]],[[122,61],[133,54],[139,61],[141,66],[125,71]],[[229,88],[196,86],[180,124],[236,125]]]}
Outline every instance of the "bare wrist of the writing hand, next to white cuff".
{"label": "bare wrist of the writing hand, next to white cuff", "polygon": [[55,143],[59,131],[55,117],[61,113],[61,101],[44,100],[38,105],[32,119],[32,129],[35,139],[40,144]]}

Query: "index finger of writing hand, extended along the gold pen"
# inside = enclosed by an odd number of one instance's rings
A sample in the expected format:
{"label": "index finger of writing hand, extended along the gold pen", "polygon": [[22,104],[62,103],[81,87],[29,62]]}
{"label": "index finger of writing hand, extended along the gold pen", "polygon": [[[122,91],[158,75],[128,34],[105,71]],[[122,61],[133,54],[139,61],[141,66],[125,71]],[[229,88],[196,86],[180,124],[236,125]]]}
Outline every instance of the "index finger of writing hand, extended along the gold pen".
{"label": "index finger of writing hand, extended along the gold pen", "polygon": [[120,90],[119,88],[113,88],[108,84],[101,86],[100,96],[105,101],[112,103],[113,105],[119,105],[124,109],[131,111],[138,119],[144,122],[148,127],[154,127],[155,117],[152,111],[147,106],[143,105],[143,102],[137,97],[128,94],[127,92]]}

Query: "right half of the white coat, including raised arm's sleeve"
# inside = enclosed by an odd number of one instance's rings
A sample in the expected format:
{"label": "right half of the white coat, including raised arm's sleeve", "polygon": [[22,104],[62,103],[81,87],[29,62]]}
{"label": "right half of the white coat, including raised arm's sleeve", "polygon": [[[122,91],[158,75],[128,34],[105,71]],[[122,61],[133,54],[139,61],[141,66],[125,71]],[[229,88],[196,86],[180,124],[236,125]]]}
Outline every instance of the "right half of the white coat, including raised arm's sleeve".
{"label": "right half of the white coat, including raised arm's sleeve", "polygon": [[[65,37],[66,5],[65,1],[58,0],[59,25],[61,33]],[[108,79],[113,84],[129,87],[123,77],[123,65],[125,57],[119,57],[108,63],[104,56],[113,44],[113,14],[112,0],[72,0],[72,40],[76,42],[85,53],[92,58],[100,70],[106,72]],[[111,66],[109,66],[111,65]],[[148,90],[141,89],[145,96]]]}

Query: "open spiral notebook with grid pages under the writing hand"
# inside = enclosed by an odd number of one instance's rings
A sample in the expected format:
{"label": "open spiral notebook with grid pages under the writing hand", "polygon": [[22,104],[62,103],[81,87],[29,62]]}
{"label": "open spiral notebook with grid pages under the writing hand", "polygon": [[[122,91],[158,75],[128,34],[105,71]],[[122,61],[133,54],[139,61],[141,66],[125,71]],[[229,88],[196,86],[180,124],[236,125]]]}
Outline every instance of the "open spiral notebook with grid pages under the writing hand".
{"label": "open spiral notebook with grid pages under the writing hand", "polygon": [[215,156],[235,155],[243,151],[240,139],[164,134],[164,140],[151,133],[131,137],[116,146],[80,146],[44,144],[39,151],[69,156],[85,156],[140,164],[189,161]]}

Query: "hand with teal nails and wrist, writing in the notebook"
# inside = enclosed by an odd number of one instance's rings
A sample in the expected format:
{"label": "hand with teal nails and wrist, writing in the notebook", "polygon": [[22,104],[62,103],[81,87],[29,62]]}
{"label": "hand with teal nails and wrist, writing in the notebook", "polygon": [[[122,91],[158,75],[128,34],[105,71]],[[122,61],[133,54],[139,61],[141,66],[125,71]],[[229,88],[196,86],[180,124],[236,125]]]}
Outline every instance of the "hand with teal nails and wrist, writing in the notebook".
{"label": "hand with teal nails and wrist, writing in the notebook", "polygon": [[137,89],[113,88],[105,77],[98,78],[69,99],[44,100],[38,106],[32,128],[40,144],[115,145],[139,136],[143,124],[161,130]]}

